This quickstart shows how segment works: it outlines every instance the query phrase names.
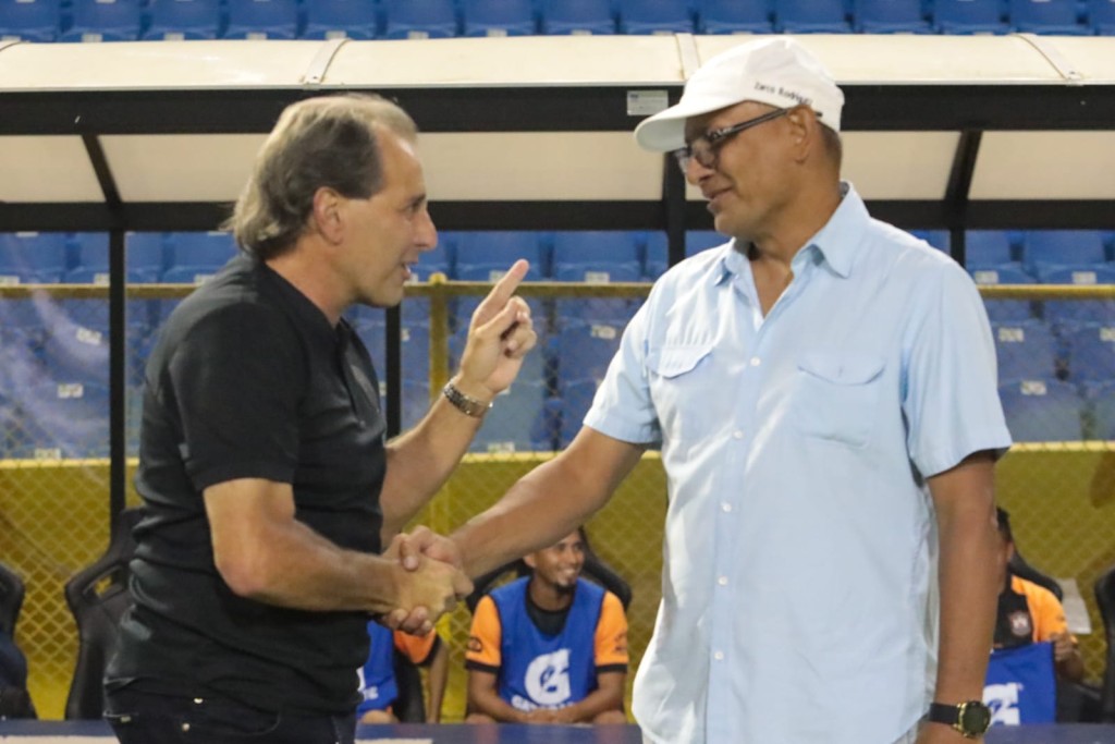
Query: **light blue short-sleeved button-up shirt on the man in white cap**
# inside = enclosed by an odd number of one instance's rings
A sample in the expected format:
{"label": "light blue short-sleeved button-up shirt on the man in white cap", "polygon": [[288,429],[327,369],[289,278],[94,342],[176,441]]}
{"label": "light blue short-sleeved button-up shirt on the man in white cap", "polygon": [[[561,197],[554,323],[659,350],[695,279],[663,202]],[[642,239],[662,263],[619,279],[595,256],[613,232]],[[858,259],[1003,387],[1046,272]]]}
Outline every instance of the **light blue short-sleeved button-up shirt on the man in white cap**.
{"label": "light blue short-sleeved button-up shirt on the man in white cap", "polygon": [[649,741],[888,744],[930,702],[925,479],[1010,437],[968,274],[845,189],[765,318],[733,243],[662,277],[585,418],[662,445]]}

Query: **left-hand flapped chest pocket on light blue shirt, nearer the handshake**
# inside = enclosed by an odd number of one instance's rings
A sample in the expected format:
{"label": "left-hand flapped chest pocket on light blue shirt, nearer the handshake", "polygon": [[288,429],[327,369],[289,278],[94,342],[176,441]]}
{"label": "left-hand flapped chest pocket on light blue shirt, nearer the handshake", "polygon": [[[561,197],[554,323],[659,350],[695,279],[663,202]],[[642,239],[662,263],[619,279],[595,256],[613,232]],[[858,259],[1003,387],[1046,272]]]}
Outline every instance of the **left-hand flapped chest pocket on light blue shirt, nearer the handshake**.
{"label": "left-hand flapped chest pocket on light blue shirt, nearer the handshake", "polygon": [[663,346],[647,358],[662,439],[691,442],[710,424],[711,344]]}

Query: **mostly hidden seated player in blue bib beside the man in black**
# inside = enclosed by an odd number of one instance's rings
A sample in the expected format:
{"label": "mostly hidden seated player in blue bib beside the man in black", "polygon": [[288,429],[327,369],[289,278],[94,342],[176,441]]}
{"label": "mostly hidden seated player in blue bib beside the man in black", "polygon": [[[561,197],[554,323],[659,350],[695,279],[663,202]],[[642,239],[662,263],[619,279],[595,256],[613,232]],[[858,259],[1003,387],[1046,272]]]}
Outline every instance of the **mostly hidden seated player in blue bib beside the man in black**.
{"label": "mostly hidden seated player in blue bib beside the man in black", "polygon": [[398,723],[392,705],[399,687],[395,677],[395,654],[426,667],[426,723],[442,719],[442,698],[449,676],[449,651],[436,630],[425,636],[411,636],[390,630],[371,620],[368,622],[371,648],[368,660],[359,669],[362,700],[356,709],[360,723]]}

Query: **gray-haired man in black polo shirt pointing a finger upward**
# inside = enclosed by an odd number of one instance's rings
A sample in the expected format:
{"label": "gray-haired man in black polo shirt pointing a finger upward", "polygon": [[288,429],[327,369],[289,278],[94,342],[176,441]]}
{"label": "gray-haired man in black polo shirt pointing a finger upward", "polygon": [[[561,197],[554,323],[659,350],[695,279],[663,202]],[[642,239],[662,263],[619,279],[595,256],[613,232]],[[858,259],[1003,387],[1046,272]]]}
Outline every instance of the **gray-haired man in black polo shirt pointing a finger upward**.
{"label": "gray-haired man in black polo shirt pointing a finger upward", "polygon": [[386,442],[341,313],[397,305],[437,234],[414,123],[371,96],[290,106],[232,226],[242,250],[168,319],[147,365],[134,608],[106,675],[125,744],[352,742],[369,613],[424,631],[471,591],[390,542],[452,473],[535,335],[517,262],[460,369]]}

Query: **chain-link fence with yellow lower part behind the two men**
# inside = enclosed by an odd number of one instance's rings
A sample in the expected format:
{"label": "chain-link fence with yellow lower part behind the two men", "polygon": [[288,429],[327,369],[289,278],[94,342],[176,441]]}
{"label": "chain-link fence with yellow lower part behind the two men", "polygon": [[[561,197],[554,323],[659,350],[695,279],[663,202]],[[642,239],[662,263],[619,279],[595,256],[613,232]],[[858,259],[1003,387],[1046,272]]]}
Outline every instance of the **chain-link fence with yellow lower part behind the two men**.
{"label": "chain-link fence with yellow lower part behind the two men", "polygon": [[[129,257],[133,245],[142,248],[143,242],[129,241]],[[143,254],[139,248],[136,255]],[[165,255],[165,245],[162,250]],[[650,257],[642,262],[649,265]],[[145,274],[132,271],[133,281],[145,281]],[[425,274],[409,292],[399,339],[405,426],[417,421],[447,378],[493,271],[497,269],[477,269],[468,282]],[[626,271],[589,268],[563,277],[566,282],[532,277],[535,281],[524,286],[540,348],[496,402],[473,452],[417,521],[440,532],[453,530],[568,444],[624,323],[649,289],[647,283],[614,281],[630,278]],[[211,272],[211,267],[186,264],[172,278],[193,282]],[[166,274],[164,265],[146,276],[145,283],[128,288],[127,442],[133,457],[143,360],[169,309],[190,291],[183,284],[149,283]],[[28,656],[40,715],[56,718],[62,714],[77,650],[62,587],[100,554],[108,537],[107,290],[97,286],[104,276],[84,284],[69,281],[74,277],[65,277],[67,283],[58,281],[64,277],[55,282],[2,277],[0,265],[0,560],[27,583],[17,639]],[[1075,581],[1083,596],[1093,631],[1079,637],[1087,675],[1096,679],[1103,671],[1104,641],[1092,586],[1115,564],[1115,286],[998,286],[983,291],[999,350],[1001,394],[1020,442],[999,465],[1000,501],[1012,513],[1027,560],[1069,588]],[[997,303],[1016,305],[1004,310]],[[361,309],[351,321],[382,371],[384,312]],[[129,503],[135,501],[129,494]],[[665,511],[665,474],[657,454],[649,453],[586,525],[595,551],[633,590],[632,673],[655,622]],[[469,622],[462,608],[440,625],[453,658],[446,721],[459,721],[464,713]]]}

